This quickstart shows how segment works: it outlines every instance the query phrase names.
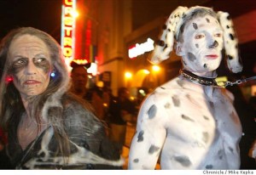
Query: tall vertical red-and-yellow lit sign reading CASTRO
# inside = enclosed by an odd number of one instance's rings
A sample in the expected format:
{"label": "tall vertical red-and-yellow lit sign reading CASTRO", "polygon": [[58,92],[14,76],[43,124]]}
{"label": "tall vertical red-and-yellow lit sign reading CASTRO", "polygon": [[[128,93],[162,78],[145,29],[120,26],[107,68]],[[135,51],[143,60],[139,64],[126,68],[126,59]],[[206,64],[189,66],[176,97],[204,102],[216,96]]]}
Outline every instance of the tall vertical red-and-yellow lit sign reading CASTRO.
{"label": "tall vertical red-and-yellow lit sign reading CASTRO", "polygon": [[75,0],[63,0],[62,4],[61,47],[67,65],[73,60],[75,4]]}

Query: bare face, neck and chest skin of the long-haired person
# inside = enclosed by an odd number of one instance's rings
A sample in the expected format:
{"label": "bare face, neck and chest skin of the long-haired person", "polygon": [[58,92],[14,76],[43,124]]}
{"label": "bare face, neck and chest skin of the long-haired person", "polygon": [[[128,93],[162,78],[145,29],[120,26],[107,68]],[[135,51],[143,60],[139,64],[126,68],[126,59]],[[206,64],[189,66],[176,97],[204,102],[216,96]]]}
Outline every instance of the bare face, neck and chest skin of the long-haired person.
{"label": "bare face, neck and chest skin of the long-haired person", "polygon": [[30,116],[28,104],[32,98],[44,93],[49,85],[51,60],[49,48],[46,44],[31,35],[23,35],[14,39],[9,47],[9,60],[11,73],[14,77],[15,88],[20,92],[20,97],[26,109],[22,115],[19,127],[18,138],[23,150],[47,127],[45,121],[40,123],[40,131],[35,117]]}

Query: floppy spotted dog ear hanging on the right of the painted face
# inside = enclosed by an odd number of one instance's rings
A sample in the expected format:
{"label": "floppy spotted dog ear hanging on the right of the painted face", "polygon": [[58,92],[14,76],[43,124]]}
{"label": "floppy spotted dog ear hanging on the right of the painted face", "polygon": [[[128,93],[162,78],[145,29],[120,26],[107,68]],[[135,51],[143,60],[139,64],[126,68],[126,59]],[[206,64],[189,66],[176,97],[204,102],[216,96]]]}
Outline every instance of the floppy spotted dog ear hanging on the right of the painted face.
{"label": "floppy spotted dog ear hanging on the right of the painted face", "polygon": [[238,40],[230,14],[219,11],[218,21],[224,30],[224,50],[227,55],[228,68],[233,73],[238,73],[242,71],[242,65],[238,50]]}

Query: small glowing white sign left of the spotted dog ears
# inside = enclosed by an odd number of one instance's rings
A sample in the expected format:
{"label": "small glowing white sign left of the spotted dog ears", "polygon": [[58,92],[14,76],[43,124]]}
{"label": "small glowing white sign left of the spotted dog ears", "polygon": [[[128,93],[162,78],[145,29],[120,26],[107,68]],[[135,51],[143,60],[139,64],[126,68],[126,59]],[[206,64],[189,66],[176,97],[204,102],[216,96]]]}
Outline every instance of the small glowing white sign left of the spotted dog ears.
{"label": "small glowing white sign left of the spotted dog ears", "polygon": [[141,44],[137,43],[135,46],[129,48],[128,56],[130,59],[133,59],[138,55],[144,54],[145,52],[149,52],[151,50],[154,50],[154,41],[148,38],[147,42],[143,42]]}

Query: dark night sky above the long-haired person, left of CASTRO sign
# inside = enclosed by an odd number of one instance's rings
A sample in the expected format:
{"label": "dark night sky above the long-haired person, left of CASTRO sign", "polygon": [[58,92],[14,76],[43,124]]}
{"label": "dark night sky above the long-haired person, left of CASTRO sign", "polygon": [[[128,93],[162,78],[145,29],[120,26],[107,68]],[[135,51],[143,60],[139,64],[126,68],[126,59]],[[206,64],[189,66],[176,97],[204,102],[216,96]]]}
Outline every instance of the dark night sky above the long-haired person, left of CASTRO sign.
{"label": "dark night sky above the long-haired person, left of CASTRO sign", "polygon": [[32,26],[61,42],[61,3],[62,0],[0,0],[0,38],[13,28]]}

